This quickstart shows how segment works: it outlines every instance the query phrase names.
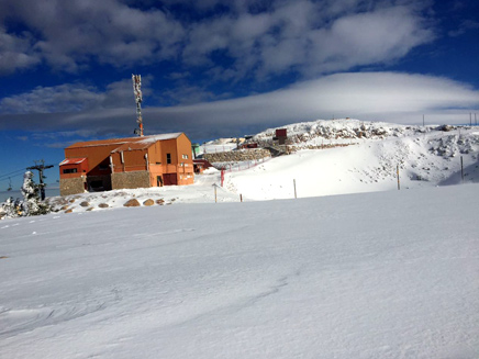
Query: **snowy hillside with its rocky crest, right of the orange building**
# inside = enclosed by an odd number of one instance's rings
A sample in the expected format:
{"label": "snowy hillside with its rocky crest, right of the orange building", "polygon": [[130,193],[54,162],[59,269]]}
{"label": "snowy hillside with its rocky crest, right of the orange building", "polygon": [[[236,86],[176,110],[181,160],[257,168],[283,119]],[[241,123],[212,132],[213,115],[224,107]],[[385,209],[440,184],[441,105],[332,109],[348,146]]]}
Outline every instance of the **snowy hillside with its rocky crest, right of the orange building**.
{"label": "snowy hillside with its rocky crest, right of the orange building", "polygon": [[[287,199],[479,182],[479,130],[420,127],[357,120],[290,126],[299,150],[226,176],[226,188],[248,199]],[[447,131],[444,131],[447,130]],[[255,136],[271,138],[268,130]],[[347,147],[322,148],[346,144]],[[308,149],[312,148],[312,149]]]}

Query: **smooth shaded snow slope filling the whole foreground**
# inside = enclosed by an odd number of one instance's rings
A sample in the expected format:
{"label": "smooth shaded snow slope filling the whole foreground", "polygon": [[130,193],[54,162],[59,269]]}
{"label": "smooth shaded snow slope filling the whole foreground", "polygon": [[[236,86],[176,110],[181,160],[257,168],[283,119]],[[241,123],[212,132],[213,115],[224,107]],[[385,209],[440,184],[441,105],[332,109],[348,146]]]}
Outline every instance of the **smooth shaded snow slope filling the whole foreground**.
{"label": "smooth shaded snow slope filling the whole foreground", "polygon": [[477,358],[478,184],[0,224],[2,358]]}

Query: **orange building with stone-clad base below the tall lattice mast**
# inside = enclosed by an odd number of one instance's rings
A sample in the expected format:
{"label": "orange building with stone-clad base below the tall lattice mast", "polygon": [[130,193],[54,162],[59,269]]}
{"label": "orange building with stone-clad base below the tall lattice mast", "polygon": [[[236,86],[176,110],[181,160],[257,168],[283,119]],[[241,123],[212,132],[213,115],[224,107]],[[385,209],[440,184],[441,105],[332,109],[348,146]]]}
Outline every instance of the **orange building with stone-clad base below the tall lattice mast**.
{"label": "orange building with stone-clad base below the tall lattice mast", "polygon": [[76,143],[59,164],[60,195],[192,184],[191,142],[183,133]]}

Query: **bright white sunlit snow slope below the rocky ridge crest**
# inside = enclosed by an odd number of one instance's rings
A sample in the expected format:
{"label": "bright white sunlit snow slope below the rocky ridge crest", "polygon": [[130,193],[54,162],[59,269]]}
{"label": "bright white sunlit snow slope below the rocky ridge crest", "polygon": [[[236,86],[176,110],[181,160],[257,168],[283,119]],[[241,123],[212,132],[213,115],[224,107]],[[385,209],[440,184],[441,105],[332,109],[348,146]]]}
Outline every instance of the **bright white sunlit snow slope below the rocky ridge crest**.
{"label": "bright white sunlit snow slope below the rocky ridge crest", "polygon": [[[479,136],[461,137],[453,132],[303,149],[229,173],[226,188],[255,200],[292,198],[293,180],[298,197],[396,190],[398,166],[402,189],[457,184],[461,182],[460,157],[465,182],[479,182]],[[457,145],[461,141],[464,145]]]}

